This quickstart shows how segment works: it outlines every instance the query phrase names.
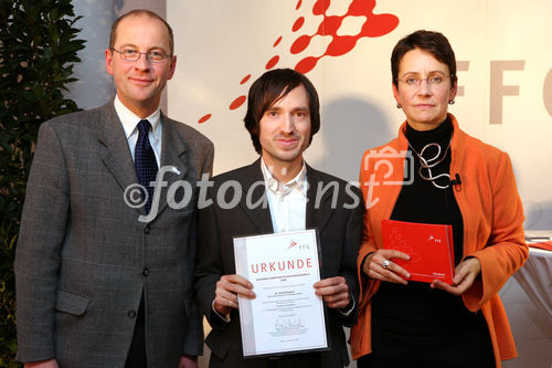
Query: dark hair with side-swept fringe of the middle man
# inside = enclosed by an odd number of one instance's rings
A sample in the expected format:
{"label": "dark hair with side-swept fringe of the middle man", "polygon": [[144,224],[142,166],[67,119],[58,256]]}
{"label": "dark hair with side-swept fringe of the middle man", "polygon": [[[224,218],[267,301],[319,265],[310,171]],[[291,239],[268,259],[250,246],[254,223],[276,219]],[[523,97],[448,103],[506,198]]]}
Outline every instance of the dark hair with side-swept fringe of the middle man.
{"label": "dark hair with side-swept fringe of the middle man", "polygon": [[305,87],[309,98],[309,145],[312,141],[312,136],[320,129],[320,103],[312,83],[301,73],[290,69],[268,71],[251,86],[247,98],[247,113],[244,117],[245,128],[250,132],[251,140],[257,154],[261,155],[262,153],[258,139],[261,118],[268,108],[299,85]]}

